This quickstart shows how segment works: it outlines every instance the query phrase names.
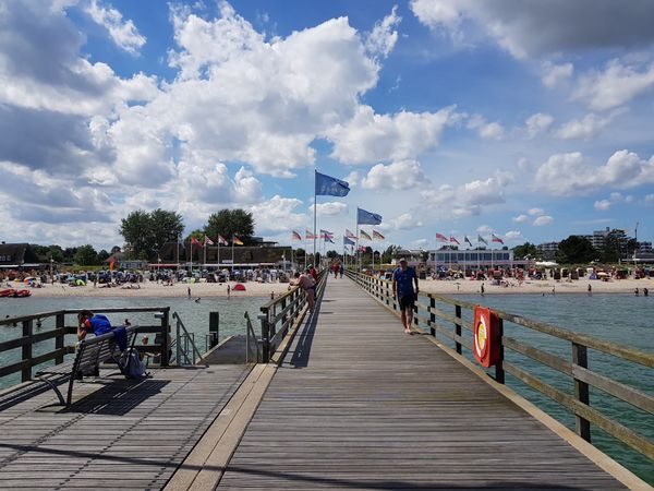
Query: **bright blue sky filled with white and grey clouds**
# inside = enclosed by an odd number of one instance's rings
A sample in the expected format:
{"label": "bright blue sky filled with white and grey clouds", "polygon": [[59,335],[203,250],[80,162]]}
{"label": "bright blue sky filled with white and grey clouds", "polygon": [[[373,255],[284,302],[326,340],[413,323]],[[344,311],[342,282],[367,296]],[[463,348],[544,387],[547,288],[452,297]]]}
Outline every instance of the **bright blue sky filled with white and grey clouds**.
{"label": "bright blue sky filled with white and grey clouds", "polygon": [[[654,2],[0,1],[2,240],[121,244],[162,207],[290,243],[652,240]],[[371,228],[371,227],[368,227]],[[368,230],[370,232],[370,230]]]}

